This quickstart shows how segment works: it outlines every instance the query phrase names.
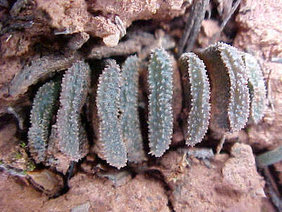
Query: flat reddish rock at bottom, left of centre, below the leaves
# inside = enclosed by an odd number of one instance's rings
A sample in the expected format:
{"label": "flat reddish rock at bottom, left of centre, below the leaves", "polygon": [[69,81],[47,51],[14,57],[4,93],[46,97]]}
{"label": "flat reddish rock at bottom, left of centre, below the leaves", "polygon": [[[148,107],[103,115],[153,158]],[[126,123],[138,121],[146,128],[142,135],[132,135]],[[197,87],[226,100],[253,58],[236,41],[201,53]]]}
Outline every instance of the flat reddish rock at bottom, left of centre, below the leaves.
{"label": "flat reddish rock at bottom, left of centre, below the leaves", "polygon": [[168,199],[159,182],[137,175],[122,187],[114,188],[96,177],[78,174],[69,182],[64,196],[51,199],[41,211],[69,211],[90,202],[89,211],[169,211]]}

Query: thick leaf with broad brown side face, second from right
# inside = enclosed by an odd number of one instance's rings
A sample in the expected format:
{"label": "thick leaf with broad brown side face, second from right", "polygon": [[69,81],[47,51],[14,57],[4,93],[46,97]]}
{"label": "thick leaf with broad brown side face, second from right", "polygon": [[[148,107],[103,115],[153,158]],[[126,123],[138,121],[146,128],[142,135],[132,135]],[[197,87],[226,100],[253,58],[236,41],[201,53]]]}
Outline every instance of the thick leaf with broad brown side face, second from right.
{"label": "thick leaf with broad brown side face, second from right", "polygon": [[223,42],[198,52],[211,81],[210,128],[224,134],[242,129],[249,117],[247,73],[238,49]]}

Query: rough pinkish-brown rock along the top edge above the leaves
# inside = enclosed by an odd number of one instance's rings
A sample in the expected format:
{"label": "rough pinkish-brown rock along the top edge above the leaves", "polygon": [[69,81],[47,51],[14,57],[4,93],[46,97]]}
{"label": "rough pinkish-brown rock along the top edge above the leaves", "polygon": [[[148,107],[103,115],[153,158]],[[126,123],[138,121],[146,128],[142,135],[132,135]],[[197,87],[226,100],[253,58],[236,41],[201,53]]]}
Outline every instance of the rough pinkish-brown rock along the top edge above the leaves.
{"label": "rough pinkish-brown rock along the top edge above the leaves", "polygon": [[[57,33],[72,34],[87,32],[90,35],[104,37],[108,46],[114,46],[120,36],[121,27],[127,28],[134,20],[151,18],[174,18],[185,12],[189,4],[183,6],[183,0],[169,1],[42,1],[36,0],[37,8],[45,11],[51,18],[51,26]],[[98,15],[99,14],[99,15]],[[121,23],[116,23],[118,16]]]}

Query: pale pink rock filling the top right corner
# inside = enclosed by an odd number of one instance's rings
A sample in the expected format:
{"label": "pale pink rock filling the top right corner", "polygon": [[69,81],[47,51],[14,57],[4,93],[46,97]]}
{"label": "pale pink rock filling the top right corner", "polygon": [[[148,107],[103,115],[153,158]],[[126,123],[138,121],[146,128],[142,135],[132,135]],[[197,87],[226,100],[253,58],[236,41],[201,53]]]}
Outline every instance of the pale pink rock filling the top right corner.
{"label": "pale pink rock filling the top right corner", "polygon": [[281,7],[282,2],[275,0],[241,1],[234,45],[266,59],[282,57]]}

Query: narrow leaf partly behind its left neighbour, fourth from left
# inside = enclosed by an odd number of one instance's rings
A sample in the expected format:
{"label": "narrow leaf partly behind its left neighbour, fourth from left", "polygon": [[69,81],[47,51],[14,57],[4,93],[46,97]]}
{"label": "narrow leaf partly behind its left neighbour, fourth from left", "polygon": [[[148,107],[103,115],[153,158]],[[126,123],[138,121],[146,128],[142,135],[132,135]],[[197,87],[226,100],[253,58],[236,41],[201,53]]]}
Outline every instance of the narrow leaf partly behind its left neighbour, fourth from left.
{"label": "narrow leaf partly behind its left neighbour, fourth from left", "polygon": [[146,159],[137,110],[139,71],[140,59],[136,56],[128,57],[121,71],[121,131],[128,160],[135,163]]}

